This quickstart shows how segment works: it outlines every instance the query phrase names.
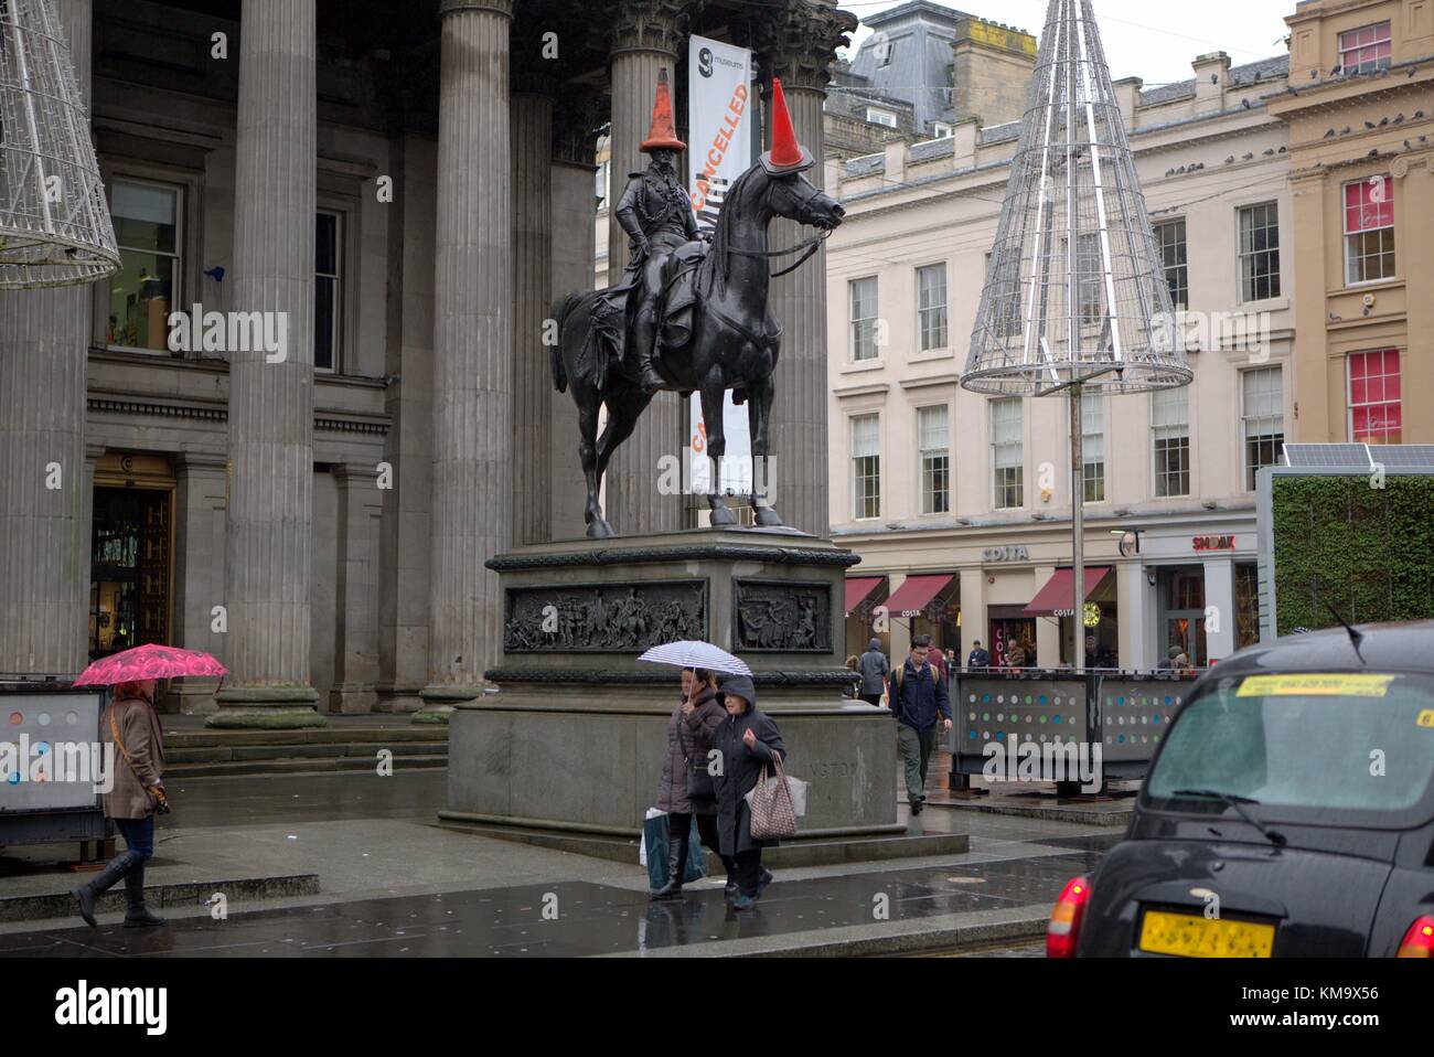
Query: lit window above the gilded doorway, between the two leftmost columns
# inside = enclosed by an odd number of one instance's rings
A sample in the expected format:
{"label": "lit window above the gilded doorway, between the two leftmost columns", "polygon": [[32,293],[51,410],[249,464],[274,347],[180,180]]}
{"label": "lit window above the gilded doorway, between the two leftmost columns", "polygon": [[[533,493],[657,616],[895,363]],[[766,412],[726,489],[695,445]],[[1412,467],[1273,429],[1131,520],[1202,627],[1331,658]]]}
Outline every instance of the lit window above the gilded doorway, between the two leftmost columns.
{"label": "lit window above the gilded doorway, between the two leftmost columns", "polygon": [[109,280],[105,343],[169,350],[169,313],[182,310],[184,188],[130,178],[109,184],[119,270]]}

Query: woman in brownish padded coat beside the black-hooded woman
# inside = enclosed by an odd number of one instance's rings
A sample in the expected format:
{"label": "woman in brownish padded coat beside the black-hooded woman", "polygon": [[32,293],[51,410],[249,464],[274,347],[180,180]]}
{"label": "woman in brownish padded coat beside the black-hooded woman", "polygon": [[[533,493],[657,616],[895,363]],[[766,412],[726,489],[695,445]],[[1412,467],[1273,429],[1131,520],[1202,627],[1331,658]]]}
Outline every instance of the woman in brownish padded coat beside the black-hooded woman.
{"label": "woman in brownish padded coat beside the black-hooded woman", "polygon": [[[717,703],[717,680],[703,668],[683,670],[683,700],[667,721],[667,756],[657,787],[657,807],[667,812],[667,883],[652,899],[675,899],[683,894],[683,872],[688,855],[701,855],[688,843],[693,822],[701,843],[717,850],[717,787],[708,773],[707,753],[713,731],[727,717]],[[731,873],[727,875],[728,883]]]}

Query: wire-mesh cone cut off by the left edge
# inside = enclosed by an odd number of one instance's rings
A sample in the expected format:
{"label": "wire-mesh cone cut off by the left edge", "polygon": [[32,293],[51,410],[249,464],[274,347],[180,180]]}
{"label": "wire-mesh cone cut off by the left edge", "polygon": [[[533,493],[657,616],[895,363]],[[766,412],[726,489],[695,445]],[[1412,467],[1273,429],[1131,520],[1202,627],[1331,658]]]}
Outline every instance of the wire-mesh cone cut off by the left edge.
{"label": "wire-mesh cone cut off by the left edge", "polygon": [[0,0],[0,288],[119,267],[89,115],[52,0]]}

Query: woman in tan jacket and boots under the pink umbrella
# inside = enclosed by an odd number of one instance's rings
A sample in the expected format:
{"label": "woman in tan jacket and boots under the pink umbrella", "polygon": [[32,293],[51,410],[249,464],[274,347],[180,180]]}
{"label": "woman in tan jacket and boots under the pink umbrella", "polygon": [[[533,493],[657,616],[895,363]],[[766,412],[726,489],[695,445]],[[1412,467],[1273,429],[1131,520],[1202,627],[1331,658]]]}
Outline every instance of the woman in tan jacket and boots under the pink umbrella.
{"label": "woman in tan jacket and boots under the pink umbrella", "polygon": [[125,928],[165,924],[145,906],[145,863],[155,853],[155,813],[169,810],[155,686],[152,678],[116,684],[100,719],[100,736],[112,746],[115,760],[113,786],[102,796],[105,817],[115,820],[125,838],[125,850],[110,859],[93,881],[70,892],[79,902],[80,916],[92,928],[95,901],[120,879],[128,901]]}

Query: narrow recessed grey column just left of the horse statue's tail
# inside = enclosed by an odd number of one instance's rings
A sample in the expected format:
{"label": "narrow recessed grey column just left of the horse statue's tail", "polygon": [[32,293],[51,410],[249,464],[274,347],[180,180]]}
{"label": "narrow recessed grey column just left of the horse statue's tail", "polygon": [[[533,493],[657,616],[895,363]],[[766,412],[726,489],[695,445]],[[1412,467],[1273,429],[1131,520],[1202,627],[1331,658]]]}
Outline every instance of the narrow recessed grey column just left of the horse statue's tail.
{"label": "narrow recessed grey column just left of the horse statue's tail", "polygon": [[[538,59],[538,62],[543,62]],[[529,63],[532,65],[532,63]],[[515,83],[531,86],[525,69]],[[552,366],[543,344],[552,313],[552,96],[518,92],[512,116],[513,179],[513,544],[552,539]]]}

